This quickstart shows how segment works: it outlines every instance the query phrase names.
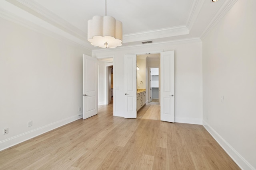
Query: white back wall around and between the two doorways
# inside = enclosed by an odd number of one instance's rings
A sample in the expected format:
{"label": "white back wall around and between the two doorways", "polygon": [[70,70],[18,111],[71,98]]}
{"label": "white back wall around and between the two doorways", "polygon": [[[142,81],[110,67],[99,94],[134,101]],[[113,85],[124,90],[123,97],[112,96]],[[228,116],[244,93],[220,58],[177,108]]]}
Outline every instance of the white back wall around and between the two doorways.
{"label": "white back wall around and between the two doorways", "polygon": [[[190,41],[191,42],[191,41]],[[175,51],[176,122],[202,124],[202,43],[143,45],[93,51],[94,57],[115,55],[116,116],[124,117],[124,55]]]}

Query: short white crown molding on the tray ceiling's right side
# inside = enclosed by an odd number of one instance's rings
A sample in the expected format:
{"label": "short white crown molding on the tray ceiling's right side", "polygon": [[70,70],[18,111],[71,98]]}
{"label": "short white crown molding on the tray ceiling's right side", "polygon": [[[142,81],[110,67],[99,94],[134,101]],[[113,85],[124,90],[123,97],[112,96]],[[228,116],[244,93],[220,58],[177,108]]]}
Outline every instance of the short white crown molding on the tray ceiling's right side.
{"label": "short white crown molding on the tray ceiling's right side", "polygon": [[190,12],[188,14],[188,20],[186,22],[186,27],[188,30],[191,30],[196,18],[198,17],[198,14],[200,13],[200,10],[204,4],[204,0],[194,0],[192,3],[192,7],[190,8]]}

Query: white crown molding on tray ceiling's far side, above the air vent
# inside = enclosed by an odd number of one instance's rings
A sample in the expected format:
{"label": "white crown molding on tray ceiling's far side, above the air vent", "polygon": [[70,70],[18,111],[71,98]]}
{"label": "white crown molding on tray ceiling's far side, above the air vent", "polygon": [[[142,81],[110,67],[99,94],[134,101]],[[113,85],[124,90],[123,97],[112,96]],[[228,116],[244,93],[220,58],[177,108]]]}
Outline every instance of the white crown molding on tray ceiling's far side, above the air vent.
{"label": "white crown molding on tray ceiling's far side, above the air vent", "polygon": [[185,25],[181,25],[177,27],[169,27],[164,29],[154,29],[151,31],[125,34],[123,35],[123,43],[145,41],[145,40],[172,37],[172,36],[178,36],[178,35],[186,35],[188,33],[189,33],[189,30]]}

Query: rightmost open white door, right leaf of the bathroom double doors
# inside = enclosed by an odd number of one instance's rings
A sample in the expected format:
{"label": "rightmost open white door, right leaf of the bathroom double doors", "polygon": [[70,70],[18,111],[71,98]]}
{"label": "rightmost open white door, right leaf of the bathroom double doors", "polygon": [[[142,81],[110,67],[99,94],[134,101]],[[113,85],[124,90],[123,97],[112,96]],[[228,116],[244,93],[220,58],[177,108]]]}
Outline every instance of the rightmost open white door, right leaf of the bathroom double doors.
{"label": "rightmost open white door, right leaf of the bathroom double doors", "polygon": [[161,121],[174,122],[174,51],[160,55]]}

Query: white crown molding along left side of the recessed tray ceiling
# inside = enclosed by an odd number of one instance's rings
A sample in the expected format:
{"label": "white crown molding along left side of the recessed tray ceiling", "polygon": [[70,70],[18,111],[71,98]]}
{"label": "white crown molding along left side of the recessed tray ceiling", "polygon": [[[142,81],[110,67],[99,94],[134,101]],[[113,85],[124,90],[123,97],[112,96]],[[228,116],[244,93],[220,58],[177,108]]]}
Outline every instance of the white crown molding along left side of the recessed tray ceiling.
{"label": "white crown molding along left side of the recessed tray ceiling", "polygon": [[6,0],[7,2],[10,2],[14,6],[17,6],[18,8],[21,8],[25,10],[26,12],[29,12],[30,14],[40,18],[41,20],[44,20],[55,27],[58,27],[59,29],[62,29],[63,31],[66,31],[67,33],[80,38],[80,39],[87,39],[87,34],[77,27],[73,26],[66,20],[60,18],[47,8],[44,8],[42,5],[38,4],[34,0]]}

